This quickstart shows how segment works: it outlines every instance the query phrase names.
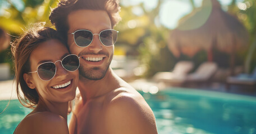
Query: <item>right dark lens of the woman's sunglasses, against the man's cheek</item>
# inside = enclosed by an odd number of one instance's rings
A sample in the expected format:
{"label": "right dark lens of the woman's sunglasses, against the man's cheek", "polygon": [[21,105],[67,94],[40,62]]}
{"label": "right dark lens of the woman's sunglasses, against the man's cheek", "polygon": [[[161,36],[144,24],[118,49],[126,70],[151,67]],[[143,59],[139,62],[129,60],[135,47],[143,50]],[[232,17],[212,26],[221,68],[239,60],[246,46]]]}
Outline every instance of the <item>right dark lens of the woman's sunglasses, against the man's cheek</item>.
{"label": "right dark lens of the woman's sunglasses, against the man's cheek", "polygon": [[62,60],[62,65],[68,71],[75,71],[79,68],[79,58],[76,55],[69,55]]}

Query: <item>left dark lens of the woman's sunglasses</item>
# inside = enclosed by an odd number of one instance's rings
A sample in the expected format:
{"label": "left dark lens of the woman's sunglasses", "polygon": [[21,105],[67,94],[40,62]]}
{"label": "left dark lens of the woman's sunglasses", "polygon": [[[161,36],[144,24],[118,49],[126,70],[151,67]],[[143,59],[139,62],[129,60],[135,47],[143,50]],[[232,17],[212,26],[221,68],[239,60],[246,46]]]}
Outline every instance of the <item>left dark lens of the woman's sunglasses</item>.
{"label": "left dark lens of the woman's sunglasses", "polygon": [[53,63],[44,63],[38,66],[38,75],[42,80],[50,80],[56,72],[56,66]]}

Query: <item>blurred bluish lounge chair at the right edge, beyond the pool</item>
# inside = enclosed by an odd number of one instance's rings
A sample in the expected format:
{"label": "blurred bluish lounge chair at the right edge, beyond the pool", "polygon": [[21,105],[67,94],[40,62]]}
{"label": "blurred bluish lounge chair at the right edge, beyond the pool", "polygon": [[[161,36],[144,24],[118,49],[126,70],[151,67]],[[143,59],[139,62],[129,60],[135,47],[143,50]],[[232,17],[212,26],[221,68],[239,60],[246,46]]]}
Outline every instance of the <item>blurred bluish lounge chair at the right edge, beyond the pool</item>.
{"label": "blurred bluish lounge chair at the right edge, beyond the pool", "polygon": [[253,74],[239,74],[237,76],[229,76],[227,78],[226,89],[230,89],[230,85],[248,85],[256,89],[256,67]]}

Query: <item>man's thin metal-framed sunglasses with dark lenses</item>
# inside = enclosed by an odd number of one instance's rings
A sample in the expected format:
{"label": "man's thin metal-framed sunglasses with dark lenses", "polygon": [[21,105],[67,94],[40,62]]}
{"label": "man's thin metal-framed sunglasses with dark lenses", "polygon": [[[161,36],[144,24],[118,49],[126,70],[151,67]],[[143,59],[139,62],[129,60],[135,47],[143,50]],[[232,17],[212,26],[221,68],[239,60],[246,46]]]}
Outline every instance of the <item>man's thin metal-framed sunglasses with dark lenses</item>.
{"label": "man's thin metal-framed sunglasses with dark lenses", "polygon": [[99,35],[99,40],[104,46],[112,46],[116,43],[117,33],[118,31],[116,30],[108,29],[94,34],[89,30],[77,30],[68,34],[74,35],[74,40],[77,46],[86,47],[93,42],[94,35]]}

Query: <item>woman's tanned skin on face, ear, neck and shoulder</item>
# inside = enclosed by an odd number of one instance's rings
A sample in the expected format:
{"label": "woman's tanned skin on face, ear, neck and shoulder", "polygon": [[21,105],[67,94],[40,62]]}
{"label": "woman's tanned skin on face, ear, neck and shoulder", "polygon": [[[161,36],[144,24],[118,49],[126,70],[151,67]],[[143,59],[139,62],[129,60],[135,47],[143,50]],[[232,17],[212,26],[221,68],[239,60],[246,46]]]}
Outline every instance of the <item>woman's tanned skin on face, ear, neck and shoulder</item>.
{"label": "woman's tanned skin on face, ear, neck and shoulder", "polygon": [[[40,63],[45,61],[62,60],[68,54],[67,47],[56,39],[42,42],[30,54],[31,70],[36,71]],[[68,134],[68,101],[75,98],[79,71],[67,71],[60,62],[56,62],[56,69],[56,75],[48,81],[40,79],[37,73],[23,75],[28,87],[38,92],[39,102],[36,108],[22,119],[14,133]],[[53,88],[67,82],[71,84],[65,88]]]}

